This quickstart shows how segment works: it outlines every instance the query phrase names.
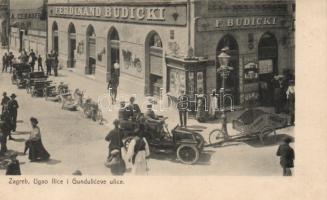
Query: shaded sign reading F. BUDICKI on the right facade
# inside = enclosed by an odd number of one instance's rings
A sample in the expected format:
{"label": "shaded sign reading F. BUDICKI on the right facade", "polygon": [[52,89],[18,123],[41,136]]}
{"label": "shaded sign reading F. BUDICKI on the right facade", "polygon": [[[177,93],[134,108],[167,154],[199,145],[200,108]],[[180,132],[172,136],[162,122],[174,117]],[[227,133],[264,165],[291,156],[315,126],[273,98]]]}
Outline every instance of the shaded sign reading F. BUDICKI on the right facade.
{"label": "shaded sign reading F. BUDICKI on the right facade", "polygon": [[247,28],[282,28],[289,26],[286,16],[250,16],[203,18],[198,21],[198,31],[247,29]]}

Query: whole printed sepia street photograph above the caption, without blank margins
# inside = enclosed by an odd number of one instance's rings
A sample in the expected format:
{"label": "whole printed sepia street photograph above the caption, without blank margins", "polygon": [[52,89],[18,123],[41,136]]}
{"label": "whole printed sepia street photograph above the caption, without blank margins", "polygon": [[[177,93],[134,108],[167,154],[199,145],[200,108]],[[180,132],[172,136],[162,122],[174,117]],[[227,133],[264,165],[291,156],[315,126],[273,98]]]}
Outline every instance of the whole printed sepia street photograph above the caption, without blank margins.
{"label": "whole printed sepia street photograph above the caption, without blank margins", "polygon": [[295,1],[1,9],[0,174],[295,174]]}

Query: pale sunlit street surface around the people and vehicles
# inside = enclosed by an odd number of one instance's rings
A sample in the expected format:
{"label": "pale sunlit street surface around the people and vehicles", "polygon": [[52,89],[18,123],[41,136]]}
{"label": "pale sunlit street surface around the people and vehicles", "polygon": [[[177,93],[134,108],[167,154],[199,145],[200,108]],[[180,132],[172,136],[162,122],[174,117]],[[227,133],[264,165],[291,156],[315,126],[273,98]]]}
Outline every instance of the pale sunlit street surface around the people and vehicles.
{"label": "pale sunlit street surface around the people and vehicles", "polygon": [[[24,89],[17,89],[11,84],[9,73],[0,73],[0,92],[7,91],[17,94],[20,104],[18,114],[18,129],[13,135],[15,141],[8,142],[11,151],[19,152],[22,173],[25,175],[70,175],[75,170],[87,175],[110,175],[110,170],[104,166],[107,157],[108,143],[104,137],[112,128],[112,121],[117,118],[118,105],[102,110],[106,123],[99,125],[85,119],[80,111],[62,110],[59,103],[46,101],[44,98],[32,98]],[[60,70],[58,77],[50,77],[56,83],[65,82],[74,90],[85,91],[87,97],[99,99],[110,105],[106,84],[85,77],[70,70]],[[121,83],[123,84],[123,83]],[[128,94],[122,90],[119,93],[126,98]],[[143,99],[137,98],[141,104]],[[271,111],[271,108],[264,108]],[[235,119],[242,111],[228,114],[229,119]],[[169,128],[178,123],[178,115],[174,110],[163,113],[168,117]],[[29,118],[39,119],[42,140],[51,154],[49,162],[31,163],[27,156],[22,155],[24,141],[30,131]],[[209,133],[221,126],[218,121],[198,123],[194,119],[188,121],[190,128],[201,130],[200,133],[208,141]],[[230,135],[238,134],[228,124]],[[149,175],[232,175],[232,176],[280,176],[279,158],[276,156],[278,141],[284,135],[294,137],[293,127],[277,130],[277,142],[268,141],[262,145],[257,140],[228,142],[220,147],[206,147],[195,165],[181,164],[174,155],[156,155],[150,159]],[[4,163],[4,160],[0,159]],[[0,166],[1,168],[1,166]],[[0,174],[5,170],[0,169]],[[126,175],[129,175],[127,173]]]}

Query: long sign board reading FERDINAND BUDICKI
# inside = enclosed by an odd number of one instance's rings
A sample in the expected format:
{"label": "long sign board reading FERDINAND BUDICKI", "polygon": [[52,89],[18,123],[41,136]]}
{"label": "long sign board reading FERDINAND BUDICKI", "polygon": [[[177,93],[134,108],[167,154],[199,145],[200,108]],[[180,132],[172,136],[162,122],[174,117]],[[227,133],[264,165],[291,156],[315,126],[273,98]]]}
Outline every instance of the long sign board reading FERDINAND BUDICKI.
{"label": "long sign board reading FERDINAND BUDICKI", "polygon": [[49,6],[49,16],[164,25],[186,25],[186,5]]}

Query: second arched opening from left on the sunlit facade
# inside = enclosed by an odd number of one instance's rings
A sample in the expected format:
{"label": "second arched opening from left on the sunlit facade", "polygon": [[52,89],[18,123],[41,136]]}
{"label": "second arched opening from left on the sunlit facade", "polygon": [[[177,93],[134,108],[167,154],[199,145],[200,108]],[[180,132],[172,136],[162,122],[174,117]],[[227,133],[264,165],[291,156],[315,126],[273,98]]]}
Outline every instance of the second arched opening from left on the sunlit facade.
{"label": "second arched opening from left on the sunlit facade", "polygon": [[68,62],[67,66],[75,67],[75,51],[76,51],[76,30],[73,23],[68,27]]}

